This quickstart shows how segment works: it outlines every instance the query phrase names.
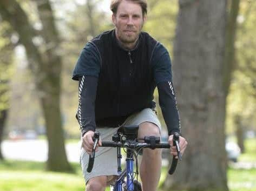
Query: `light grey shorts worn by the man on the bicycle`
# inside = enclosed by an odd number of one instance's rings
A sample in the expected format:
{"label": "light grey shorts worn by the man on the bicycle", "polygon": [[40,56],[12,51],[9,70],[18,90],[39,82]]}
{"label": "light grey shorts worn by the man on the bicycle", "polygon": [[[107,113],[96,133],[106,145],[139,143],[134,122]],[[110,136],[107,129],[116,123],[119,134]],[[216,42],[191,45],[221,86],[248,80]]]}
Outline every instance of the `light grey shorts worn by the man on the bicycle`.
{"label": "light grey shorts worn by the man on the bicycle", "polygon": [[[134,113],[130,115],[126,121],[122,125],[140,125],[142,122],[152,122],[161,132],[161,124],[159,119],[157,118],[155,112],[146,108],[140,112]],[[116,128],[97,128],[97,131],[101,134],[102,141],[111,141],[112,135],[117,132]],[[99,151],[95,153],[94,167],[90,173],[87,172],[87,166],[89,161],[89,155],[86,151],[81,147],[80,153],[80,163],[82,167],[83,177],[86,183],[89,179],[94,178],[96,176],[113,176],[117,175],[117,156],[116,156],[116,148],[111,147],[99,147]]]}

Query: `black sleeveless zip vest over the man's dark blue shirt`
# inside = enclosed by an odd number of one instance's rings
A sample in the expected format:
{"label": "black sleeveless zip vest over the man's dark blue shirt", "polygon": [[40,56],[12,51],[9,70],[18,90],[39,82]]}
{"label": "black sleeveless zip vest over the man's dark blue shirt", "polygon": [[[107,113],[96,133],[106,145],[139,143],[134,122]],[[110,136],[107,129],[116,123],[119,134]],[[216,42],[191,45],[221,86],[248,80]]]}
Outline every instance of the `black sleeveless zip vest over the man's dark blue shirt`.
{"label": "black sleeveless zip vest over the man's dark blue shirt", "polygon": [[120,47],[115,30],[102,33],[91,40],[101,56],[101,72],[95,100],[96,125],[121,125],[128,115],[154,108],[155,83],[152,53],[156,40],[141,32],[132,51]]}

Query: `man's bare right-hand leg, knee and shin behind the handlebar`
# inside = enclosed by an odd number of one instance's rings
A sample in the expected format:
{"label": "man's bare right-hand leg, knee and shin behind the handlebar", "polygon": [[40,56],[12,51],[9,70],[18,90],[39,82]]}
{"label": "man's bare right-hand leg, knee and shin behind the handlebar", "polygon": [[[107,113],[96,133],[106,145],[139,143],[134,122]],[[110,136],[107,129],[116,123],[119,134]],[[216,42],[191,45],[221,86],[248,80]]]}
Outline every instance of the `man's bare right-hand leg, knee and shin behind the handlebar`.
{"label": "man's bare right-hand leg, knee and shin behind the handlebar", "polygon": [[[140,124],[138,137],[154,135],[160,137],[159,127],[152,122]],[[161,175],[161,149],[143,149],[140,176],[143,191],[156,191]]]}

